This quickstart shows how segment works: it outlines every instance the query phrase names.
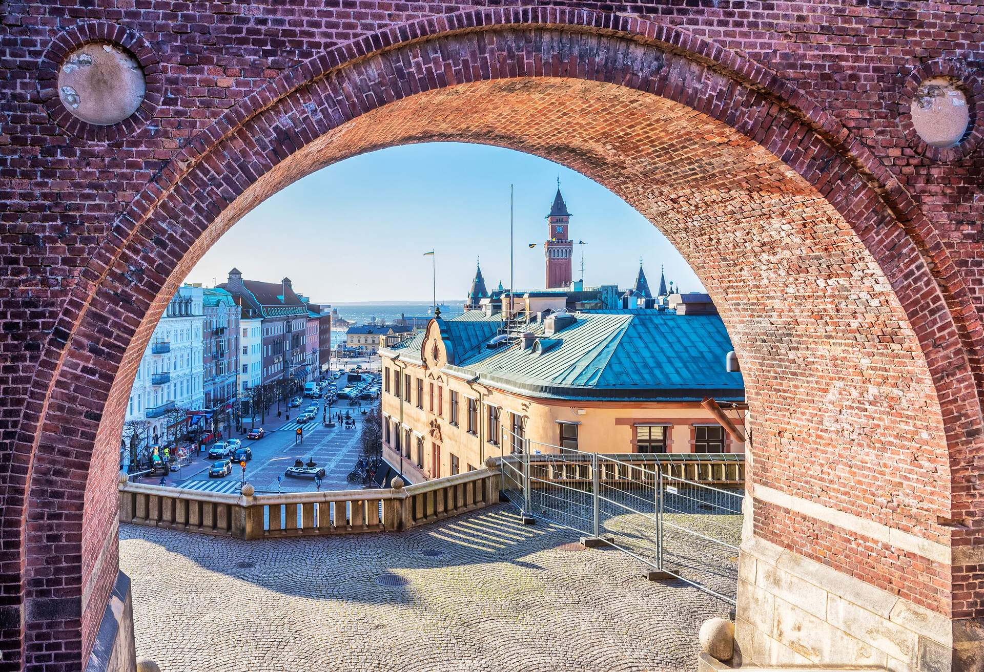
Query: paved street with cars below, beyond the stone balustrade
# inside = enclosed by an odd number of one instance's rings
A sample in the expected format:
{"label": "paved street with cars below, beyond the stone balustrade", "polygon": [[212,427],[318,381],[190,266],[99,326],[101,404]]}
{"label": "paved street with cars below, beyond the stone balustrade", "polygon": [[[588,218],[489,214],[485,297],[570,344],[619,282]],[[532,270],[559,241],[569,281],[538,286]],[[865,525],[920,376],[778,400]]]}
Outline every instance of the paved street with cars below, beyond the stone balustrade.
{"label": "paved street with cars below, beyond the stone balustrade", "polygon": [[[346,377],[342,376],[333,385],[340,390],[346,384]],[[361,487],[348,483],[345,477],[355,466],[361,454],[360,437],[365,416],[360,411],[378,405],[379,399],[359,401],[357,406],[349,405],[349,402],[344,399],[339,399],[338,402],[334,403],[331,409],[332,414],[338,416],[339,411],[342,414],[347,411],[355,417],[355,427],[347,429],[338,423],[337,417],[335,427],[324,426],[322,417],[325,411],[325,399],[303,397],[301,401],[299,407],[290,409],[289,420],[277,418],[276,405],[272,409],[273,412],[267,414],[266,423],[261,424],[260,418],[257,417],[255,426],[263,427],[265,431],[262,439],[251,440],[246,438],[246,432],[253,424],[249,418],[244,419],[244,431],[234,434],[232,438],[241,440],[243,447],[249,448],[253,452],[253,458],[246,462],[245,480],[251,483],[257,492],[313,491],[316,489],[313,480],[283,475],[284,470],[293,465],[295,459],[307,462],[313,458],[317,465],[324,467],[326,471],[325,478],[321,483],[322,490],[346,490]],[[298,415],[312,401],[318,402],[317,416],[306,423],[298,423]],[[302,431],[300,437],[296,434],[298,427]],[[206,448],[209,447],[211,444]],[[164,479],[164,484],[209,492],[238,493],[243,481],[243,470],[239,463],[233,462],[230,475],[215,478],[209,476],[209,467],[214,461],[214,459],[207,458],[205,453],[196,456],[190,464],[182,467],[180,471],[172,471],[168,474]],[[277,477],[280,477],[279,483]],[[159,484],[160,477],[147,476],[144,482]]]}

